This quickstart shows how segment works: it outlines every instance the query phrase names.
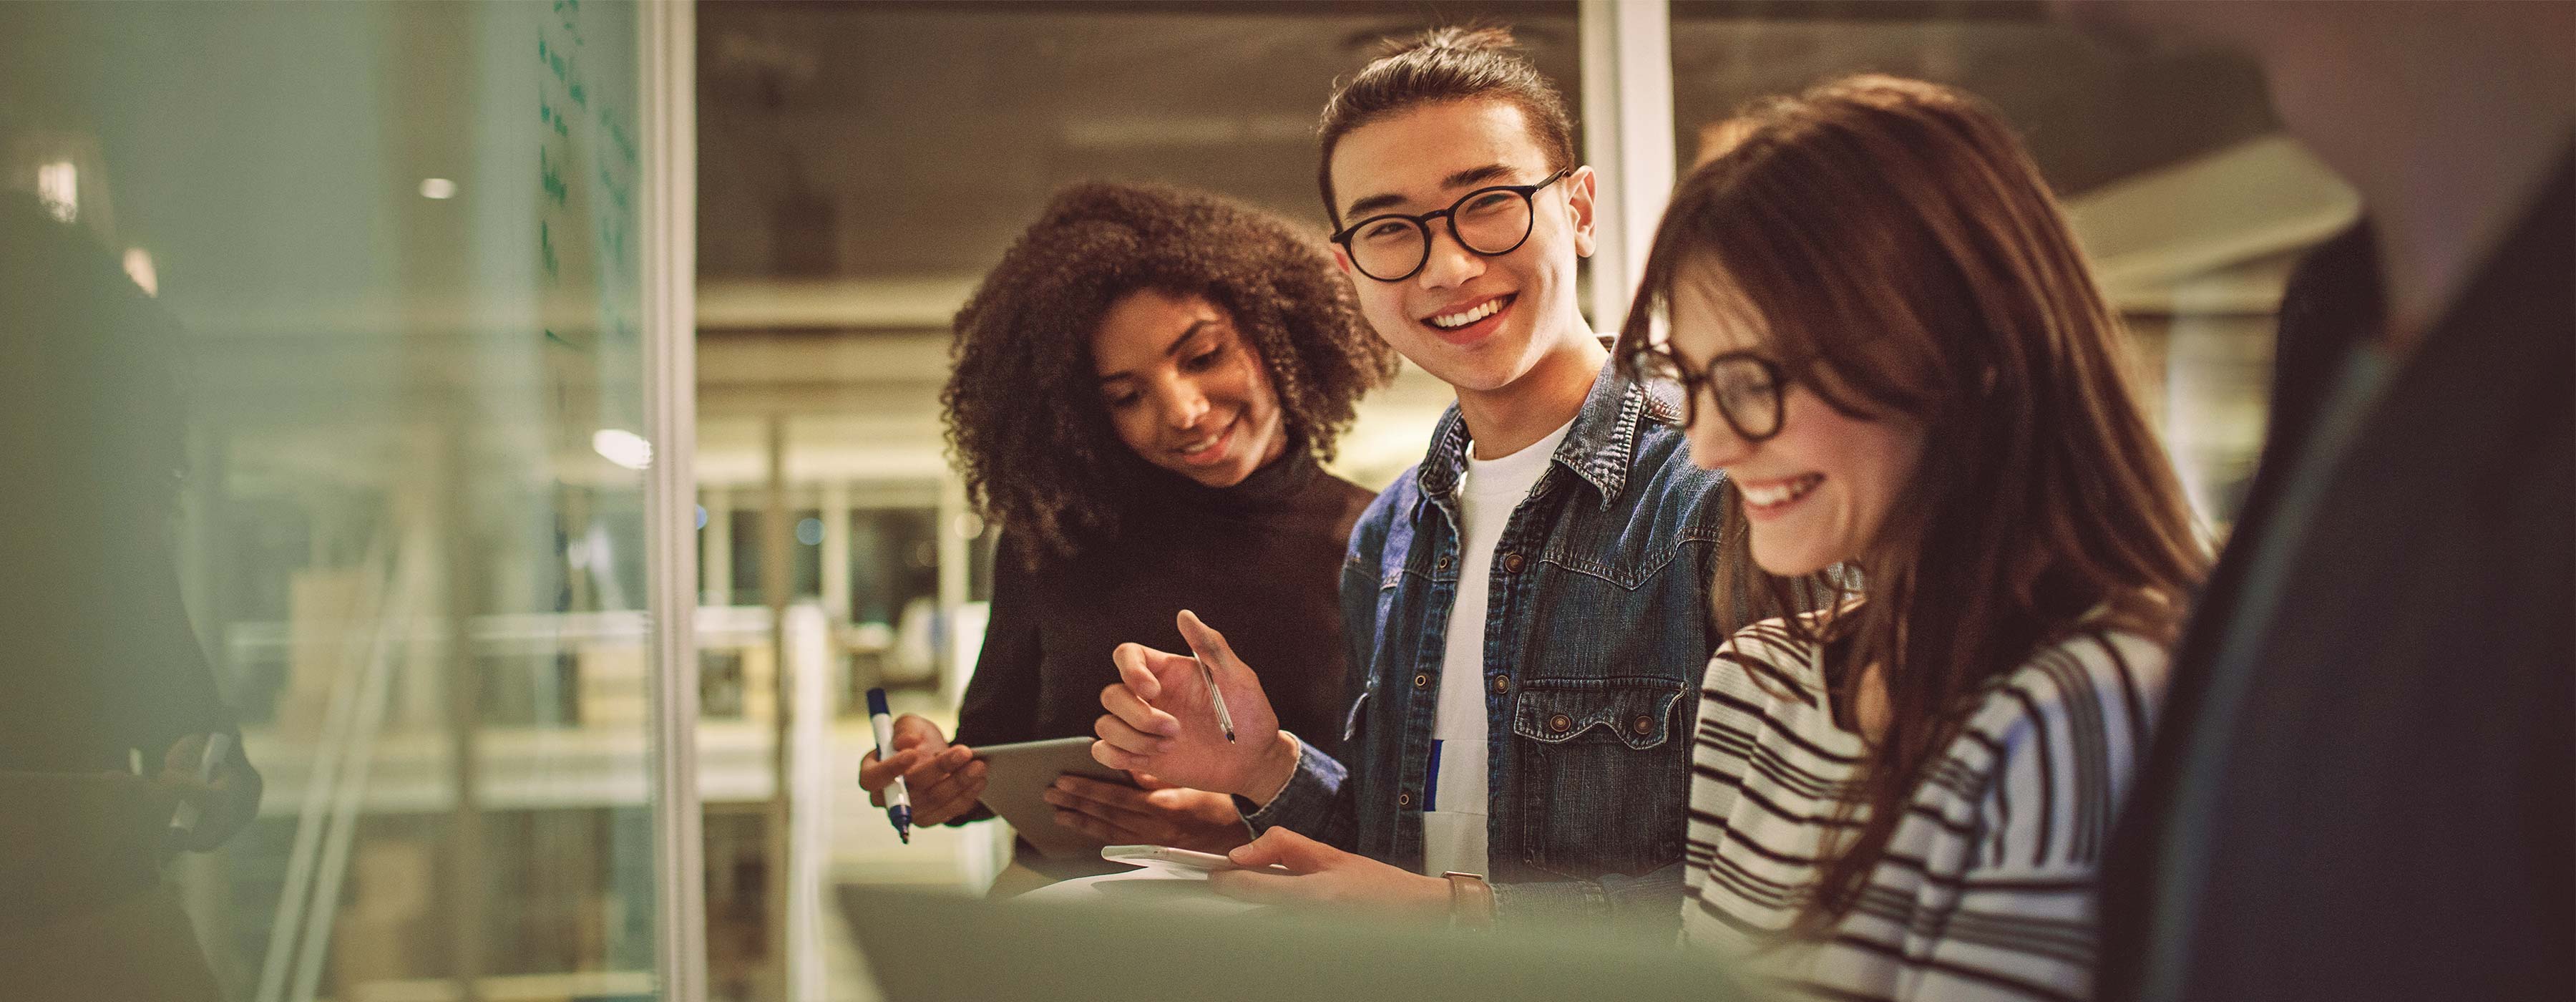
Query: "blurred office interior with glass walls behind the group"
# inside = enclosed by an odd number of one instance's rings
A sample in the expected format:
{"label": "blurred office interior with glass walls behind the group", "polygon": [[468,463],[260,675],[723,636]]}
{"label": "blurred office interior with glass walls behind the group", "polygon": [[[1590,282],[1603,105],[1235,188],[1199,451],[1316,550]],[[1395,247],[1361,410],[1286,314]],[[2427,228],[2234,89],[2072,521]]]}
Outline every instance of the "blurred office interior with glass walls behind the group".
{"label": "blurred office interior with glass walls behind the group", "polygon": [[[1332,77],[1466,18],[1566,88],[1613,219],[1762,93],[1991,98],[2226,531],[2280,283],[2354,198],[2251,64],[2035,3],[0,5],[5,188],[175,322],[170,574],[265,775],[165,868],[222,994],[873,997],[824,889],[974,891],[1010,845],[896,845],[853,783],[860,693],[953,726],[981,639],[951,314],[1072,180],[1321,237]],[[1589,265],[1597,330],[1631,268]],[[1445,404],[1406,368],[1340,474],[1383,487]]]}

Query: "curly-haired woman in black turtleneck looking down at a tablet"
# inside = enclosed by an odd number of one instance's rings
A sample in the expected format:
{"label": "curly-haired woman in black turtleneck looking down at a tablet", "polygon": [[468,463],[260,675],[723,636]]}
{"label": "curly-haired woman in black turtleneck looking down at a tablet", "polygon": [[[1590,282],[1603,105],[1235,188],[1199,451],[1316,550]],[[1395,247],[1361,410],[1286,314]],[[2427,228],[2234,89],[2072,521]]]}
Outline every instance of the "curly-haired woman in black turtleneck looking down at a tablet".
{"label": "curly-haired woman in black turtleneck looking down at a tablet", "polygon": [[[1319,461],[1396,355],[1319,242],[1208,193],[1074,185],[958,312],[953,355],[948,438],[1002,525],[992,626],[958,744],[904,716],[860,786],[904,775],[917,824],[989,817],[969,744],[1092,734],[1110,649],[1180,647],[1182,608],[1298,652],[1280,716],[1342,732],[1334,603],[1370,492]],[[1226,796],[1139,780],[1048,799],[1108,842],[1249,840]]]}

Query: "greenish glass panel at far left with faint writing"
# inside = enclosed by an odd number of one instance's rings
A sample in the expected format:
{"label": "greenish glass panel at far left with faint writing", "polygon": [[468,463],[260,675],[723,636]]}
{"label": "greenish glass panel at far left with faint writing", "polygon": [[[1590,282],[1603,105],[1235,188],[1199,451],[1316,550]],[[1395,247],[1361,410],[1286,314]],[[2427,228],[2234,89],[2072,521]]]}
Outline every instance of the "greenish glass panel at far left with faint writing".
{"label": "greenish glass panel at far left with faint writing", "polygon": [[[13,538],[0,605],[70,590],[54,636],[180,639],[100,706],[0,695],[0,732],[41,706],[100,721],[0,773],[124,770],[131,744],[160,773],[173,737],[237,724],[265,775],[160,884],[142,850],[142,884],[54,902],[193,925],[67,943],[155,979],[88,997],[659,994],[636,15],[0,8],[0,209],[52,216],[5,245],[113,278],[5,301],[10,337],[70,319],[44,358],[90,373],[57,397],[85,420],[5,415],[8,464],[72,471],[36,518],[57,536],[88,533],[72,500],[167,513],[90,533],[134,556],[108,572]],[[46,657],[8,623],[8,659]],[[95,644],[59,665],[75,688],[134,672]]]}

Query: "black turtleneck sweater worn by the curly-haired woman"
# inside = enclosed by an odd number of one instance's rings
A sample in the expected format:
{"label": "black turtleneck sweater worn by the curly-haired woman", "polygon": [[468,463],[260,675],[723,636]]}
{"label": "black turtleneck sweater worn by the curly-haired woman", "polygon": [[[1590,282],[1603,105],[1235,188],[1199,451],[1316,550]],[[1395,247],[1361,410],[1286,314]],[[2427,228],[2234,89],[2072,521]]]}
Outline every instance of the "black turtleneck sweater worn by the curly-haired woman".
{"label": "black turtleneck sweater worn by the curly-haired woman", "polygon": [[1151,471],[1128,528],[1030,572],[1007,531],[992,577],[992,623],[976,659],[961,744],[1090,737],[1110,652],[1136,641],[1188,652],[1175,618],[1195,610],[1262,677],[1280,726],[1324,752],[1342,744],[1342,613],[1350,523],[1373,497],[1291,456],[1234,487]]}

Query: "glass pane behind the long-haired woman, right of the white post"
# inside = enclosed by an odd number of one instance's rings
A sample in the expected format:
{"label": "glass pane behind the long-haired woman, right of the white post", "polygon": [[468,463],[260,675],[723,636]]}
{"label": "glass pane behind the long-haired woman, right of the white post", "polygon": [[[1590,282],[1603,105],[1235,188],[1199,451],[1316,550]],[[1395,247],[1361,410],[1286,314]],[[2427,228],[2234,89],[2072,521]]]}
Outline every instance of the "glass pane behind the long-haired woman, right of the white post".
{"label": "glass pane behind the long-haired woman, right of the white post", "polygon": [[2280,283],[2357,211],[2277,137],[2254,64],[2112,46],[2035,5],[1674,3],[1682,170],[1731,142],[1747,100],[1847,72],[1973,90],[2022,131],[2128,317],[2148,417],[2223,533],[2262,446]]}

